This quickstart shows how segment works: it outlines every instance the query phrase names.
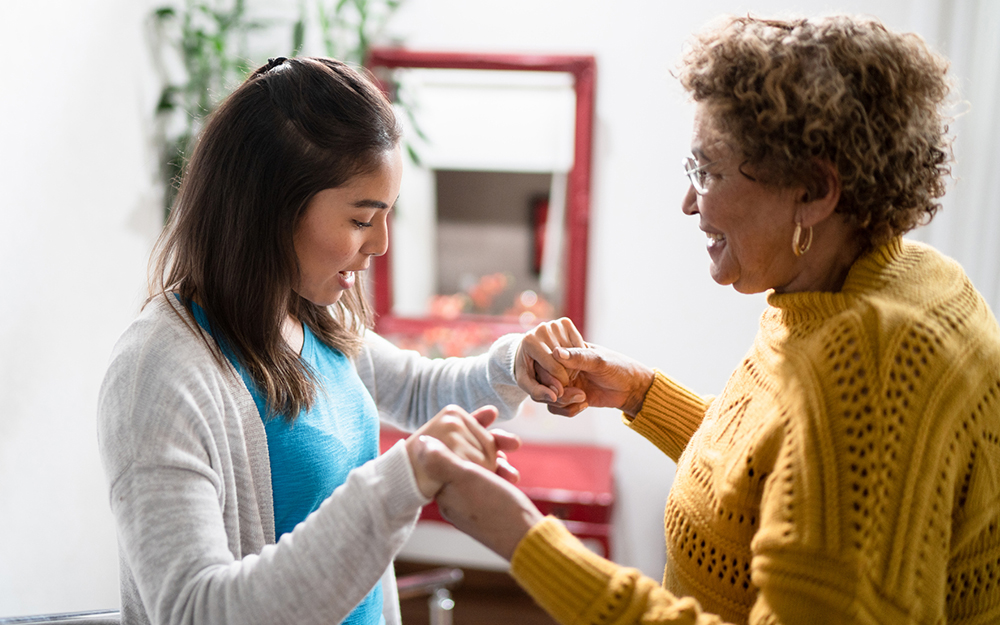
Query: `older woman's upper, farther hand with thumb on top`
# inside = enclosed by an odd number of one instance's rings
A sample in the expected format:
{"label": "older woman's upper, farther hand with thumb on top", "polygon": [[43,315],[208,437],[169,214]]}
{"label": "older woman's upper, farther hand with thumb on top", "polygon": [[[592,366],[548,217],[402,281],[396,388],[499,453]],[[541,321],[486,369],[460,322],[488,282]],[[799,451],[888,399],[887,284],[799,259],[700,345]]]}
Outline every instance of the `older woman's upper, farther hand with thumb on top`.
{"label": "older woman's upper, farther hand with thumb on top", "polygon": [[635,416],[653,384],[653,370],[646,365],[600,345],[583,348],[557,347],[552,358],[573,372],[572,387],[583,394],[581,401],[549,402],[549,412],[571,417],[588,406],[619,408]]}

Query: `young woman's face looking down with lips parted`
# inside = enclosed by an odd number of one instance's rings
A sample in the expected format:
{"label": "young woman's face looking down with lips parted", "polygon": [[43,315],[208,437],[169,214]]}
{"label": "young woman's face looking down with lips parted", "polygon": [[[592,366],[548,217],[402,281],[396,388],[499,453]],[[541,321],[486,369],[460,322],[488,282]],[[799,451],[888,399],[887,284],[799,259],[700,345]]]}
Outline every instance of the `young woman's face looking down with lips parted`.
{"label": "young woman's face looking down with lips parted", "polygon": [[295,228],[299,280],[295,292],[319,306],[337,302],[354,286],[372,256],[389,246],[389,210],[399,196],[403,161],[399,146],[382,155],[368,174],[317,193]]}

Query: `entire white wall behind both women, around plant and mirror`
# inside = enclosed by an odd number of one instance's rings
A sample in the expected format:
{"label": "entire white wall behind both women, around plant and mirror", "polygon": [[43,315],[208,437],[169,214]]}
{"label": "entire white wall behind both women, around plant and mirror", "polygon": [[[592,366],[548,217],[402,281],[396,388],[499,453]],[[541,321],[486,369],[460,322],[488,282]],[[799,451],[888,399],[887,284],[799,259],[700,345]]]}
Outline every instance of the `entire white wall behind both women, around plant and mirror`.
{"label": "entire white wall behind both women, around plant and mirror", "polygon": [[[95,411],[163,223],[151,52],[163,4],[0,4],[0,616],[118,606]],[[289,54],[306,5],[247,0],[248,14],[282,25],[257,42],[251,65]],[[595,57],[587,338],[717,393],[765,302],[712,282],[704,235],[680,211],[692,109],[670,70],[686,37],[722,13],[828,12],[874,14],[952,59],[955,180],[944,211],[912,236],[958,259],[998,310],[995,0],[403,0],[376,43]],[[301,44],[325,53],[316,31]],[[614,559],[662,575],[669,460],[614,411],[564,420],[529,404],[509,429],[615,450]]]}

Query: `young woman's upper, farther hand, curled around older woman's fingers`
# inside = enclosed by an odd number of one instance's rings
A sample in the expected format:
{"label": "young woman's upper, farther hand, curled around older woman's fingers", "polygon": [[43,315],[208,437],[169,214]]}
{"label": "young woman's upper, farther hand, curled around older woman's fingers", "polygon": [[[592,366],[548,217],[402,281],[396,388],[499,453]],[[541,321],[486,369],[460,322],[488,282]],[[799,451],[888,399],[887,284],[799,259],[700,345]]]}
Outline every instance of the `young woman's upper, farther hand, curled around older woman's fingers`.
{"label": "young woman's upper, farther hand, curled around older woman's fingers", "polygon": [[573,322],[563,317],[540,323],[525,333],[514,355],[514,378],[521,390],[542,403],[570,404],[583,400],[583,394],[569,391],[573,372],[552,357],[559,347],[586,347],[587,343]]}

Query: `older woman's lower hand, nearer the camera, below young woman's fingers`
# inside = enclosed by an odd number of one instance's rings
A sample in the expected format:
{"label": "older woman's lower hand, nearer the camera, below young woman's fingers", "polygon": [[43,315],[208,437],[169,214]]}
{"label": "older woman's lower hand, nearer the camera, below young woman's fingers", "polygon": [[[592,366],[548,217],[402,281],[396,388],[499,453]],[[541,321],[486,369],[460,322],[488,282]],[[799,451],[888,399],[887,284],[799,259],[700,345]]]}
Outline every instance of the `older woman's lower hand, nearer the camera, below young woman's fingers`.
{"label": "older woman's lower hand, nearer the camera, below young woman's fingers", "polygon": [[462,460],[439,441],[424,446],[425,466],[443,487],[438,510],[455,527],[510,560],[517,544],[542,520],[531,500],[510,482]]}

